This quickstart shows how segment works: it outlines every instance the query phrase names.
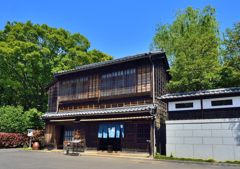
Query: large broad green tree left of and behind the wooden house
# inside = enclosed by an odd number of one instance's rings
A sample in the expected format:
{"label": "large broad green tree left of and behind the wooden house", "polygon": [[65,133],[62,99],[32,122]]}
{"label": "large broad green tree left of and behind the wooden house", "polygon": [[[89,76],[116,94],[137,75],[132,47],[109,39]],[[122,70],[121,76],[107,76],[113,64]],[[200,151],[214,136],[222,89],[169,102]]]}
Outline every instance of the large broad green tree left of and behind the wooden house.
{"label": "large broad green tree left of and behind the wooden house", "polygon": [[46,24],[7,22],[0,31],[0,106],[22,105],[45,112],[47,91],[54,72],[113,59],[80,33]]}

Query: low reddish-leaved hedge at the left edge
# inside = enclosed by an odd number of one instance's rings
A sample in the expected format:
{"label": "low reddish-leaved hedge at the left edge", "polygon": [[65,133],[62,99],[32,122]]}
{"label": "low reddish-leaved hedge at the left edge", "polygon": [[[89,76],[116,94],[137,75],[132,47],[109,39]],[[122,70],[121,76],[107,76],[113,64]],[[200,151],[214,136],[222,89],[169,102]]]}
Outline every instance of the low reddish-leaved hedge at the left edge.
{"label": "low reddish-leaved hedge at the left edge", "polygon": [[20,133],[0,133],[0,148],[22,147],[28,144],[28,136]]}

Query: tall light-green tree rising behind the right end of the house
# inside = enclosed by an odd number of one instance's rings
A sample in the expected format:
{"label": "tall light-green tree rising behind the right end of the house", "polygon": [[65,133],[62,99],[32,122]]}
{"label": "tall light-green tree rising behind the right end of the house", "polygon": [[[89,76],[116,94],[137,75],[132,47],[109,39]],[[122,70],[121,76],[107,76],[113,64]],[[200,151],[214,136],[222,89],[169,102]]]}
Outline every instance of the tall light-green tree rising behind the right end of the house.
{"label": "tall light-green tree rising behind the right end of the house", "polygon": [[173,92],[215,88],[219,75],[219,22],[215,8],[179,10],[172,24],[157,24],[151,49],[162,48],[170,61]]}

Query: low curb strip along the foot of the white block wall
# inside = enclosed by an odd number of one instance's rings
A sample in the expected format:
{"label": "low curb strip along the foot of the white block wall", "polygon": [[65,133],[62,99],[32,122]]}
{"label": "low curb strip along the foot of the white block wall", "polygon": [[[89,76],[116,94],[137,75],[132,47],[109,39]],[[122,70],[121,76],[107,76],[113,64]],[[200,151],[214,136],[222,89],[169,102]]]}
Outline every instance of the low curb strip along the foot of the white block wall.
{"label": "low curb strip along the foot of the white block wall", "polygon": [[215,165],[215,166],[231,166],[240,167],[240,164],[230,164],[230,163],[210,163],[210,162],[197,162],[197,161],[182,161],[182,160],[164,160],[164,159],[153,159],[154,161],[166,161],[172,163],[187,163],[187,164],[199,164],[199,165]]}

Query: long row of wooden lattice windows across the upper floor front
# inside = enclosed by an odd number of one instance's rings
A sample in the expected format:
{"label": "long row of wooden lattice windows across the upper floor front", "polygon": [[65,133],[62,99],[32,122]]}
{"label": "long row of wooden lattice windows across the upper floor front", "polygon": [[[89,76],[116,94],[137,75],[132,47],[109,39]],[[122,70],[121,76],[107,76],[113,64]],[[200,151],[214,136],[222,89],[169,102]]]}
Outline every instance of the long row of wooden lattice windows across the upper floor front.
{"label": "long row of wooden lattice windows across the upper floor front", "polygon": [[137,89],[138,93],[150,91],[150,64],[139,66],[137,70],[130,68],[100,77],[95,74],[63,80],[60,82],[59,101],[99,97],[99,88],[100,96],[136,93]]}

